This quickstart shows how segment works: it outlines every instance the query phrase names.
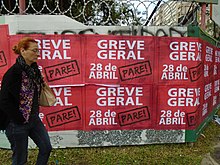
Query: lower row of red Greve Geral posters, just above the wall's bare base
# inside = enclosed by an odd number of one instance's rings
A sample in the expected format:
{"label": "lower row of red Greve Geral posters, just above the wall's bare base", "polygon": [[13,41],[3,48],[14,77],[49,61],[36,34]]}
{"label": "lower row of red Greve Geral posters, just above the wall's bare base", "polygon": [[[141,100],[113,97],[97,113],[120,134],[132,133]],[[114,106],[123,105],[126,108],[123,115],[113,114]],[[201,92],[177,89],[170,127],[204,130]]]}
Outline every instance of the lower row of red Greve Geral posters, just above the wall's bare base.
{"label": "lower row of red Greve Geral posters, just above the wall's bare base", "polygon": [[56,87],[55,106],[42,107],[41,115],[52,131],[192,130],[218,105],[219,82],[201,86]]}

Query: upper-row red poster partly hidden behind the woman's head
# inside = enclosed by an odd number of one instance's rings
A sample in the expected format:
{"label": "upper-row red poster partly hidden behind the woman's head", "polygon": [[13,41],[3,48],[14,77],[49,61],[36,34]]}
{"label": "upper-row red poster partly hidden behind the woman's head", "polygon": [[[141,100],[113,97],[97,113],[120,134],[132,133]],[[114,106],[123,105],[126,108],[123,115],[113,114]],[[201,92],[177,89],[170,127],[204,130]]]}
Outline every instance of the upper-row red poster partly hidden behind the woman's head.
{"label": "upper-row red poster partly hidden behind the woman's head", "polygon": [[[29,35],[30,36],[30,35]],[[24,35],[11,36],[10,47]],[[38,64],[50,85],[83,84],[81,37],[78,35],[31,35],[38,41]],[[11,54],[13,52],[11,51]],[[16,56],[12,58],[14,62]]]}

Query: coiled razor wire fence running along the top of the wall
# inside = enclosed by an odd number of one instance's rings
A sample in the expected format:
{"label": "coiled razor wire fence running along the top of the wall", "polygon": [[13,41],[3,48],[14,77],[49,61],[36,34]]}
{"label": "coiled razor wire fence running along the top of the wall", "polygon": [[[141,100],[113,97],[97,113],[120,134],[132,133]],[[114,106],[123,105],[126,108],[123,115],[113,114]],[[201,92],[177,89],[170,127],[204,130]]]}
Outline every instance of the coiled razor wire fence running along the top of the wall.
{"label": "coiled razor wire fence running along the top of the wall", "polygon": [[183,26],[196,23],[200,11],[198,3],[170,0],[21,1],[1,0],[0,15],[67,15],[85,25]]}

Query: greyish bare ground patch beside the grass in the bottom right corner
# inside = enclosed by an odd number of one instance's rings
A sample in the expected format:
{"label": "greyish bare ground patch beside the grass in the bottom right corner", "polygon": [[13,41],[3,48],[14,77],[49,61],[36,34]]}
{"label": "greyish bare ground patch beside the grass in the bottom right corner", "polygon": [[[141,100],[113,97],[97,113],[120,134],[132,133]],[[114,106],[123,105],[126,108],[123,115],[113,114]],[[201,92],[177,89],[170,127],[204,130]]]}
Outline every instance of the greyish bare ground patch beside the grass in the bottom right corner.
{"label": "greyish bare ground patch beside the grass in the bottom right corner", "polygon": [[201,165],[220,165],[220,143],[214,146],[213,153],[208,153],[203,158]]}

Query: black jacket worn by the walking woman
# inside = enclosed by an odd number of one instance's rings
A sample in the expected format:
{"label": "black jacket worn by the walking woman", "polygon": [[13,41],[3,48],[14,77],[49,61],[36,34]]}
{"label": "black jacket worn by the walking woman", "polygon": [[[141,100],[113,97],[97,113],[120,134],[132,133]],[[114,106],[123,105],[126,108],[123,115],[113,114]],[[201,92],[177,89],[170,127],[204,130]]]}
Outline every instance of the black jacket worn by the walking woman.
{"label": "black jacket worn by the walking woman", "polygon": [[22,124],[25,121],[19,111],[21,79],[22,69],[16,63],[3,76],[0,92],[0,115],[5,115],[7,118],[4,122],[5,127],[10,120],[17,124]]}

